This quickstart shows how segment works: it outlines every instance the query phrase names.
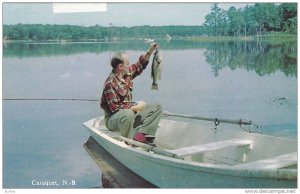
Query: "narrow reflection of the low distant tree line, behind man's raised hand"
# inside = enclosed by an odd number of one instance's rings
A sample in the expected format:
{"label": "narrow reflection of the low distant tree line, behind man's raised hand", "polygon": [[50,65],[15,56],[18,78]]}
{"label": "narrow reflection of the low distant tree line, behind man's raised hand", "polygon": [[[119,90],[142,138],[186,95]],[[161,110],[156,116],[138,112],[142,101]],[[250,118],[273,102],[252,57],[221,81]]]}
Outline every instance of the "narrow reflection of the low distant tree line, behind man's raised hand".
{"label": "narrow reflection of the low distant tree line, behind man's raised hand", "polygon": [[[205,48],[209,43],[192,41],[158,41],[160,48],[164,50],[183,50]],[[41,56],[65,56],[77,53],[102,53],[107,51],[145,50],[149,43],[138,41],[114,41],[114,42],[68,42],[68,43],[36,43],[14,42],[4,44],[4,57],[41,57]]]}

